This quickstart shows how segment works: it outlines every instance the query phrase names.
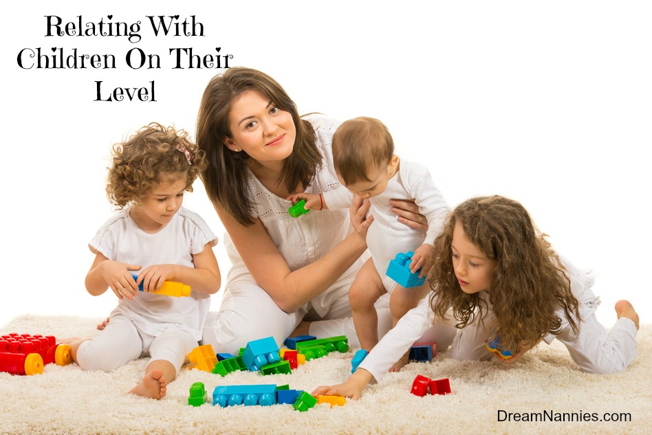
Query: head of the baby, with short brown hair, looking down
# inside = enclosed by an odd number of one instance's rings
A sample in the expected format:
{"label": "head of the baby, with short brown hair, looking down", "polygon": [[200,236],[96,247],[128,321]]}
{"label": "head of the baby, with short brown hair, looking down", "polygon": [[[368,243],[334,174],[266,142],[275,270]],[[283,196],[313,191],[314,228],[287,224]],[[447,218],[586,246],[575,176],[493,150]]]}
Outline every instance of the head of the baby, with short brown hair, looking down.
{"label": "head of the baby, with short brown hair, looking down", "polygon": [[333,135],[333,162],[343,186],[361,198],[375,197],[398,169],[387,127],[361,116],[341,124]]}

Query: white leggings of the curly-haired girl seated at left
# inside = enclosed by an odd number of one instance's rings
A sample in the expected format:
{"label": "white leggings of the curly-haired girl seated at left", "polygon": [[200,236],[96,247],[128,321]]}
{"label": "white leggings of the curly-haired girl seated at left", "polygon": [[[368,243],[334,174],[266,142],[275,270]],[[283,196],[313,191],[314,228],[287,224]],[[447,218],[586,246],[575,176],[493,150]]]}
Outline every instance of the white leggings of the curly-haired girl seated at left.
{"label": "white leggings of the curly-haired girl seated at left", "polygon": [[129,319],[116,315],[106,328],[79,345],[77,364],[84,370],[111,370],[129,361],[151,356],[169,361],[179,372],[197,340],[182,329],[168,328],[153,336],[140,331]]}

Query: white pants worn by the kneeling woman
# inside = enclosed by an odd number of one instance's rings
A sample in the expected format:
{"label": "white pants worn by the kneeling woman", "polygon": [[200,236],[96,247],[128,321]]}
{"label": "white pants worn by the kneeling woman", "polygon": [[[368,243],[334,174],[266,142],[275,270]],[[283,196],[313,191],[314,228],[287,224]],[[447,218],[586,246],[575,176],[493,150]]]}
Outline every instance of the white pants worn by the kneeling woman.
{"label": "white pants worn by the kneeling woman", "polygon": [[[349,280],[340,280],[336,285],[348,289],[353,278],[354,276]],[[376,309],[378,337],[382,337],[391,328],[389,293],[376,302]],[[309,304],[307,309],[285,313],[250,275],[230,280],[219,312],[208,313],[202,344],[210,344],[217,353],[233,355],[237,355],[239,348],[245,347],[248,342],[270,336],[281,346],[301,320],[312,322],[310,335],[317,338],[346,335],[349,346],[360,346],[351,317],[348,293],[334,300],[324,317],[310,309]]]}

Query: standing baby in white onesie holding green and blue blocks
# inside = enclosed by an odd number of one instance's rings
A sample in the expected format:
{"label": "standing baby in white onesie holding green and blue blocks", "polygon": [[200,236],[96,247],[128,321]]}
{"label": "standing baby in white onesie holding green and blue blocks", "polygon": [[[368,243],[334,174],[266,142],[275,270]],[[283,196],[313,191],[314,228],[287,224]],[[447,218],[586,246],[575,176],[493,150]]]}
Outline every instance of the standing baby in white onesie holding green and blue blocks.
{"label": "standing baby in white onesie holding green and blue blocks", "polygon": [[[371,258],[362,266],[349,290],[356,333],[361,349],[351,361],[355,371],[367,353],[378,343],[378,317],[373,304],[384,293],[391,293],[393,324],[428,292],[427,281],[405,289],[386,275],[396,254],[414,252],[409,265],[412,273],[426,276],[433,262],[435,237],[442,230],[448,205],[435,187],[428,170],[417,163],[400,161],[387,127],[374,118],[354,118],[343,122],[333,135],[333,161],[340,188],[323,194],[300,193],[290,199],[305,200],[305,208],[314,210],[348,208],[352,194],[369,200],[367,219],[373,224],[367,232]],[[427,223],[427,231],[413,229],[398,221],[391,211],[393,199],[413,200],[419,206],[417,223]],[[373,218],[372,218],[373,216]],[[301,218],[298,218],[301,219]],[[400,370],[406,358],[391,371]]]}

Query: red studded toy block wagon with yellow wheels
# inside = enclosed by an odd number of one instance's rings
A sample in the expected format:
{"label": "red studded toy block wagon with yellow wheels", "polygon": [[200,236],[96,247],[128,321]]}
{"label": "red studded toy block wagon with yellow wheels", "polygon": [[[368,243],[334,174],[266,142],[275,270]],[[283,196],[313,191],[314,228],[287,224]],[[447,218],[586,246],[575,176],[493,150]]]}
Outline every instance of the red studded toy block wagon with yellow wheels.
{"label": "red studded toy block wagon with yellow wheels", "polygon": [[11,333],[0,337],[0,371],[12,375],[43,373],[45,364],[67,366],[72,362],[70,346],[57,344],[53,335]]}

